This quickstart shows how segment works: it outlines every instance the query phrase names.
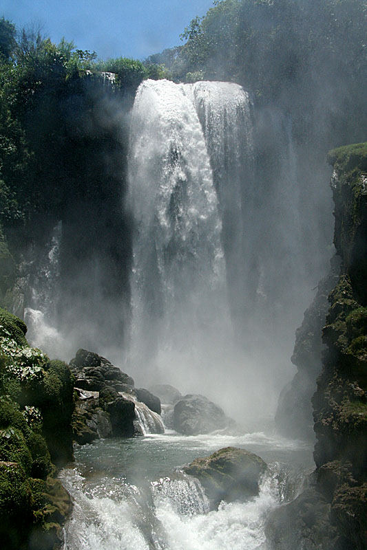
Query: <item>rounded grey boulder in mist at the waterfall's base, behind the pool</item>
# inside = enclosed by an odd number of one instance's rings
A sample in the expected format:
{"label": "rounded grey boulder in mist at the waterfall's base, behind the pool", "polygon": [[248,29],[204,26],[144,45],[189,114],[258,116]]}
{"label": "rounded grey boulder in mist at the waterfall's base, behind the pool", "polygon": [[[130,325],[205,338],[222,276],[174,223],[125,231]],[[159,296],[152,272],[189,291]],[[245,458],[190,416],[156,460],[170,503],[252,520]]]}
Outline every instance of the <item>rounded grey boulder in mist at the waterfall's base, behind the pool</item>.
{"label": "rounded grey boulder in mist at the waterfall's base, behind the pool", "polygon": [[227,425],[223,410],[203,395],[185,395],[174,406],[173,426],[181,434],[207,434]]}

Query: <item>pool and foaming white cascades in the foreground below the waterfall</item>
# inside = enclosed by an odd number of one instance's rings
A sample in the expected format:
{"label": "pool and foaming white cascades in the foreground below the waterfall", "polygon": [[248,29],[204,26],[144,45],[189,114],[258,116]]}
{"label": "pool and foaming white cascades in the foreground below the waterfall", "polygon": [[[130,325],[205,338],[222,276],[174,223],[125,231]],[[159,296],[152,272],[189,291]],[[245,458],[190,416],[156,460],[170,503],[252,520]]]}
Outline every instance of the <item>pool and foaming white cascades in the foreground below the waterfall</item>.
{"label": "pool and foaming white cascades in the foreground below the waterfall", "polygon": [[[227,445],[257,452],[269,472],[258,497],[209,511],[200,483],[177,467]],[[302,442],[262,432],[105,440],[75,454],[77,466],[61,472],[74,498],[67,550],[265,550],[266,517],[296,496],[311,465]]]}

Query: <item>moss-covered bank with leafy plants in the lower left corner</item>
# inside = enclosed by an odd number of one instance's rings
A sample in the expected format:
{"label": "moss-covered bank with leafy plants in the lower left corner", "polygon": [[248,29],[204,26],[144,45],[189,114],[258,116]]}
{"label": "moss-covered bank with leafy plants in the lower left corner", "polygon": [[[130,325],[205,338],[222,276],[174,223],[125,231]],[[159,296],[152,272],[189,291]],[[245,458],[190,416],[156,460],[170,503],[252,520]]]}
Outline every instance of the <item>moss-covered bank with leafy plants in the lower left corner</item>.
{"label": "moss-covered bank with leafy plants in the lower left corner", "polygon": [[0,535],[9,550],[52,549],[70,509],[52,462],[72,459],[73,378],[28,346],[26,330],[0,309]]}

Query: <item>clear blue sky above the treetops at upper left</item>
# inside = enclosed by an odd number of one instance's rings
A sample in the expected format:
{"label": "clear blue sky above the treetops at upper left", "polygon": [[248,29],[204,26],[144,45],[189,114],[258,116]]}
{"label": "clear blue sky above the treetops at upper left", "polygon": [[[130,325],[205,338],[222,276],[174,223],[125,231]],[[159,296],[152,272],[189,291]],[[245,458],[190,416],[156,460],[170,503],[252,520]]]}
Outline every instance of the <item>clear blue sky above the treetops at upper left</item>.
{"label": "clear blue sky above the treetops at upper left", "polygon": [[179,35],[213,0],[2,0],[0,17],[17,28],[40,25],[59,43],[63,36],[99,58],[142,59],[181,43]]}

